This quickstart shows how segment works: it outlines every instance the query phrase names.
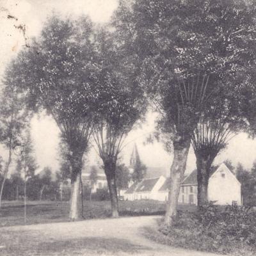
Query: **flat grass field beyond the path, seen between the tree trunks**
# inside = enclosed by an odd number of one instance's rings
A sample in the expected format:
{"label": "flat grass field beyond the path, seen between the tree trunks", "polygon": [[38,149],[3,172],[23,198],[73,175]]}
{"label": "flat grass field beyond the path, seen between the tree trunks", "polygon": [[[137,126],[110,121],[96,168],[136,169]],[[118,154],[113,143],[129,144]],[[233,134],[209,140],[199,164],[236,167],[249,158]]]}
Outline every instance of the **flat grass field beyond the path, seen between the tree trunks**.
{"label": "flat grass field beyond the path, seen between the tree trunks", "polygon": [[[120,201],[120,216],[141,216],[164,214],[165,202],[154,200]],[[195,207],[182,207],[192,210]],[[26,209],[26,224],[52,223],[68,221],[68,202],[59,201],[30,201]],[[110,218],[111,207],[109,201],[84,201],[84,218]],[[24,225],[23,202],[3,202],[0,210],[0,227]]]}

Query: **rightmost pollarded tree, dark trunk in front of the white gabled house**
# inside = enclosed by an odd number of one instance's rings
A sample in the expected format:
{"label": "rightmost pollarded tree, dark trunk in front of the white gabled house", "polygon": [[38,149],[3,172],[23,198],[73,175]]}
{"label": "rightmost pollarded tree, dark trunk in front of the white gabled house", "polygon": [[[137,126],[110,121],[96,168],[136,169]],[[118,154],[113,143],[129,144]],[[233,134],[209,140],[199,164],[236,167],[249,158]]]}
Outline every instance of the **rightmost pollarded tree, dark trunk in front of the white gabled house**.
{"label": "rightmost pollarded tree, dark trunk in front of the white gabled house", "polygon": [[[225,86],[221,90],[225,90]],[[243,131],[246,127],[242,111],[236,104],[236,98],[228,91],[223,93],[218,90],[208,100],[209,108],[204,111],[193,132],[192,145],[196,156],[198,207],[208,202],[208,183],[215,157],[227,147],[228,141],[236,136],[237,132]]]}

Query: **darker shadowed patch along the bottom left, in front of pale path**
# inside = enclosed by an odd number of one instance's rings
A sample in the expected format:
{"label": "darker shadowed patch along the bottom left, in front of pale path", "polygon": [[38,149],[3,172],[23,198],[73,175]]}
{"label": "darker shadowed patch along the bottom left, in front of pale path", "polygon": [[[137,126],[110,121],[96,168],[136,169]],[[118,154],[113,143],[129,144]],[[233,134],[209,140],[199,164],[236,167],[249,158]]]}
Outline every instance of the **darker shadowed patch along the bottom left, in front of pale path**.
{"label": "darker shadowed patch along the bottom left, in front of pale path", "polygon": [[40,232],[3,232],[0,234],[0,255],[81,255],[81,253],[136,254],[147,250],[145,246],[131,243],[126,239],[107,237],[83,237],[77,239],[47,240]]}

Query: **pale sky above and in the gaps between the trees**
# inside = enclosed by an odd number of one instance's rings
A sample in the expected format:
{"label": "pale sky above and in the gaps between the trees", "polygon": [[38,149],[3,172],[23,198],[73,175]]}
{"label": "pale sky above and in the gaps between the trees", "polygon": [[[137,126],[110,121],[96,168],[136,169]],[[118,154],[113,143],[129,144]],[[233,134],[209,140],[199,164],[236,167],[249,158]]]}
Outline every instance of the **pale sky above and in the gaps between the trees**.
{"label": "pale sky above and in the gaps between the trees", "polygon": [[[45,19],[52,12],[63,17],[89,15],[93,22],[104,24],[104,22],[108,22],[117,6],[117,0],[0,0],[0,79],[3,77],[4,68],[8,62],[25,47],[22,33],[14,26],[26,25],[26,36],[29,42],[29,38],[40,34]],[[8,19],[8,15],[12,15],[15,19]],[[129,157],[134,143],[136,143],[141,160],[147,166],[170,168],[172,153],[166,152],[161,143],[145,144],[147,136],[154,132],[156,116],[156,113],[148,111],[146,122],[127,136],[125,142],[127,145],[121,156],[125,164],[129,164]],[[51,116],[42,113],[33,117],[31,137],[39,169],[51,166],[53,170],[58,170],[60,132]],[[3,148],[0,148],[0,154],[5,156]],[[86,164],[102,164],[93,147],[86,159]],[[240,162],[246,168],[251,168],[256,159],[256,140],[248,138],[247,134],[238,134],[230,141],[228,147],[216,157],[214,164],[221,163],[225,159],[230,159],[234,164]],[[191,172],[195,168],[195,161],[195,154],[190,148],[187,172]]]}

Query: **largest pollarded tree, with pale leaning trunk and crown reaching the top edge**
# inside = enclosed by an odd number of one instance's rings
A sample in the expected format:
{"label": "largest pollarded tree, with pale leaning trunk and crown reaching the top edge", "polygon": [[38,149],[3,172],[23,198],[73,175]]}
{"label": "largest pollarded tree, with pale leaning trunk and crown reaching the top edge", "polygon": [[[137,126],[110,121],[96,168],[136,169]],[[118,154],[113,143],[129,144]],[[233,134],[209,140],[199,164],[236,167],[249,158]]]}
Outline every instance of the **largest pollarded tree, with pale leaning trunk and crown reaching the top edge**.
{"label": "largest pollarded tree, with pale leaning trunk and crown reaching the top edge", "polygon": [[254,10],[234,1],[137,0],[117,12],[127,49],[142,60],[140,84],[161,113],[159,129],[173,141],[167,225],[177,216],[189,145],[205,103],[223,77],[245,67],[241,57],[253,63],[250,51],[241,53],[241,42],[255,38],[248,27]]}

